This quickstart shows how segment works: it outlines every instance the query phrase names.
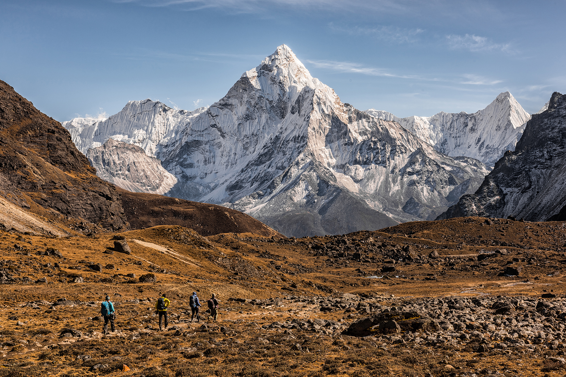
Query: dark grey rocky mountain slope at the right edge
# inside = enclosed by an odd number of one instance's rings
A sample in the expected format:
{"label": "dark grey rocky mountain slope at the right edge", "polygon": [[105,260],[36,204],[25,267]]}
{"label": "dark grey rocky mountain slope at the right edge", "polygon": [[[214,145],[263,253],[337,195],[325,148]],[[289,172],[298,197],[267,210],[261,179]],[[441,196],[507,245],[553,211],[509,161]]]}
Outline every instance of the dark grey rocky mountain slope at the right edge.
{"label": "dark grey rocky mountain slope at the right edge", "polygon": [[534,114],[514,151],[495,164],[481,187],[438,219],[509,215],[531,221],[566,220],[566,96],[555,92]]}

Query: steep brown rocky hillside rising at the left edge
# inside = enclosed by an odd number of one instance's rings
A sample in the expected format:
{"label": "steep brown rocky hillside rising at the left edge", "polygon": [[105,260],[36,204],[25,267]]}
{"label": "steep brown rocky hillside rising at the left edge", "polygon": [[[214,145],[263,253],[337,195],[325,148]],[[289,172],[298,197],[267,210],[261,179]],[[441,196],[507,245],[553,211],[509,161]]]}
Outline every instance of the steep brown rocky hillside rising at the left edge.
{"label": "steep brown rocky hillside rising at the left edge", "polygon": [[115,187],[99,179],[68,131],[0,81],[0,195],[36,213],[126,226]]}

